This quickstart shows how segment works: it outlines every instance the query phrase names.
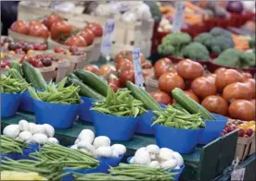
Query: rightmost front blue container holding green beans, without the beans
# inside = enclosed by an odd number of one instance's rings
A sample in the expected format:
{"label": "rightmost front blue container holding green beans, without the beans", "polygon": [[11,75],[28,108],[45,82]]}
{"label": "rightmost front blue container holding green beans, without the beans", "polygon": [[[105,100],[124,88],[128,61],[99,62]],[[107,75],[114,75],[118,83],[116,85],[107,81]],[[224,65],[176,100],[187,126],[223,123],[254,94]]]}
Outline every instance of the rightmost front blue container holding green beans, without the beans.
{"label": "rightmost front blue container holding green beans, without the beans", "polygon": [[201,129],[181,129],[154,125],[157,145],[160,148],[168,148],[179,153],[194,151],[202,135]]}

